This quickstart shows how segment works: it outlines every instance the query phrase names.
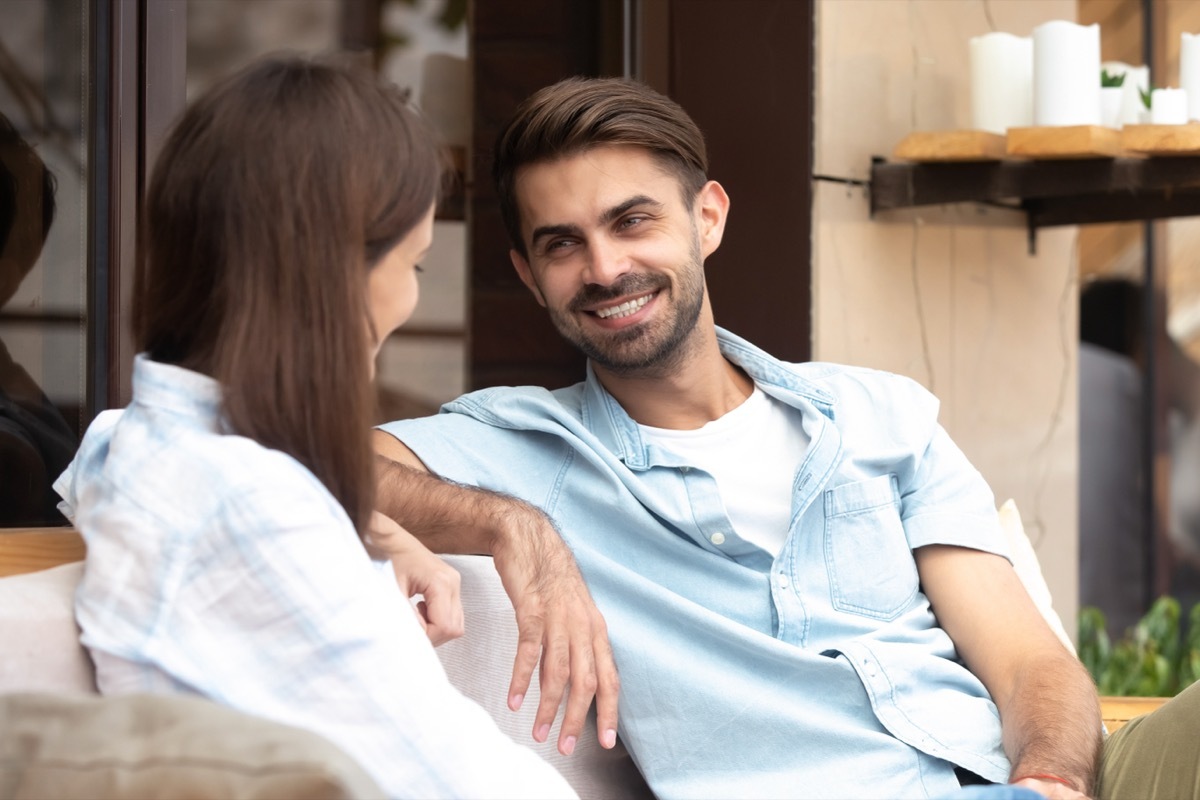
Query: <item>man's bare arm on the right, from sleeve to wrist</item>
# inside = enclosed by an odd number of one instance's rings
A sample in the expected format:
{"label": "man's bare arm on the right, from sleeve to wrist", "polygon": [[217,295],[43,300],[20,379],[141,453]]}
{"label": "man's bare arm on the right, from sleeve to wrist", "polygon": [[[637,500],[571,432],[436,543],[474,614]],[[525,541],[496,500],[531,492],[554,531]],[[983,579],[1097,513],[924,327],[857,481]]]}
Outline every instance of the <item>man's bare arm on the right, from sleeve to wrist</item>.
{"label": "man's bare arm on the right, from sleeve to wrist", "polygon": [[1009,780],[1024,777],[1018,783],[1049,798],[1090,795],[1100,752],[1096,687],[1012,565],[950,546],[920,547],[916,558],[938,624],[1000,709]]}

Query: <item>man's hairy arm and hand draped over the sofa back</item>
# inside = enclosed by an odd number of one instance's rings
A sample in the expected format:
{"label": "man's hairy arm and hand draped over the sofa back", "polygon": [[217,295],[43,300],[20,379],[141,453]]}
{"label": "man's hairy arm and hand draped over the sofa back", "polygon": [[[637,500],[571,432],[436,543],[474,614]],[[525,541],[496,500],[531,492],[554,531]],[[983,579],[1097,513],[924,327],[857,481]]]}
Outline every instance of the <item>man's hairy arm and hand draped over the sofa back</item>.
{"label": "man's hairy arm and hand draped over the sofa back", "polygon": [[570,684],[558,750],[570,754],[596,702],[596,738],[617,742],[620,681],[604,616],[592,601],[570,549],[550,518],[515,498],[452,483],[428,473],[395,437],[376,431],[377,507],[437,553],[487,553],[496,561],[517,616],[517,657],[509,708],[524,700],[534,667],[541,703],[533,736],[546,741]]}

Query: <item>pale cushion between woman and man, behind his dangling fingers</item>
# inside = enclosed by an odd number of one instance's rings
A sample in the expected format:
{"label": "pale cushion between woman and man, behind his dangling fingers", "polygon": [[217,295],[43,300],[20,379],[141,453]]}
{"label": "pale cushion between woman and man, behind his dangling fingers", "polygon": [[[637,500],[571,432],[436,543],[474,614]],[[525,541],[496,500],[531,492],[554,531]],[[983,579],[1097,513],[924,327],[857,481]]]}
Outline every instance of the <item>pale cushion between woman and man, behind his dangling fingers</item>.
{"label": "pale cushion between woman and man, behind his dangling fingers", "polygon": [[510,739],[530,747],[552,764],[583,800],[653,798],[619,740],[613,750],[600,746],[594,710],[588,715],[571,756],[558,752],[562,709],[547,741],[538,744],[533,740],[533,721],[541,697],[538,673],[534,673],[521,710],[509,710],[509,684],[517,655],[517,622],[492,559],[486,555],[444,558],[462,575],[462,607],[467,625],[462,638],[438,648],[450,682],[484,706]]}

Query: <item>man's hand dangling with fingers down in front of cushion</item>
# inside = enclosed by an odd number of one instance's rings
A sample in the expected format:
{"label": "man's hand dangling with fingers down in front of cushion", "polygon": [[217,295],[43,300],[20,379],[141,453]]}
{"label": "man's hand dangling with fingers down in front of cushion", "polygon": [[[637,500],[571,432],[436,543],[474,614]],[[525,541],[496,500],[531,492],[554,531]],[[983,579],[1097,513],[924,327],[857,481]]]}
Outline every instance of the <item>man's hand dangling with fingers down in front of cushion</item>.
{"label": "man's hand dangling with fingers down in front of cushion", "polygon": [[617,744],[620,680],[608,644],[608,628],[575,558],[550,521],[533,510],[520,516],[520,524],[514,524],[492,546],[496,571],[512,600],[520,632],[509,708],[514,711],[521,708],[540,661],[541,702],[533,738],[546,741],[565,693],[558,751],[564,756],[575,751],[593,697],[596,738],[602,747],[612,747]]}

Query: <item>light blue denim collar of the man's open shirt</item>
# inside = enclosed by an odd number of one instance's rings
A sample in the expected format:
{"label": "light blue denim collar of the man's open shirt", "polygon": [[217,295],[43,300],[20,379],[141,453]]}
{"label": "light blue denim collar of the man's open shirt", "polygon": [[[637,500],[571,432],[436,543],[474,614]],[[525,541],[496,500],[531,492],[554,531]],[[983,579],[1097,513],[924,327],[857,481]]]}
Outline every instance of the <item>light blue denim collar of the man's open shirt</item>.
{"label": "light blue denim collar of the man's open shirt", "polygon": [[[716,341],[721,355],[745,369],[764,392],[802,411],[811,408],[829,420],[833,419],[835,405],[833,395],[802,378],[794,365],[768,355],[719,326]],[[667,465],[662,461],[662,453],[654,453],[652,452],[654,449],[647,447],[637,422],[600,385],[590,361],[583,387],[583,423],[630,469],[648,469],[655,463]],[[805,428],[808,427],[806,422]],[[809,434],[812,435],[812,432],[809,431]]]}

